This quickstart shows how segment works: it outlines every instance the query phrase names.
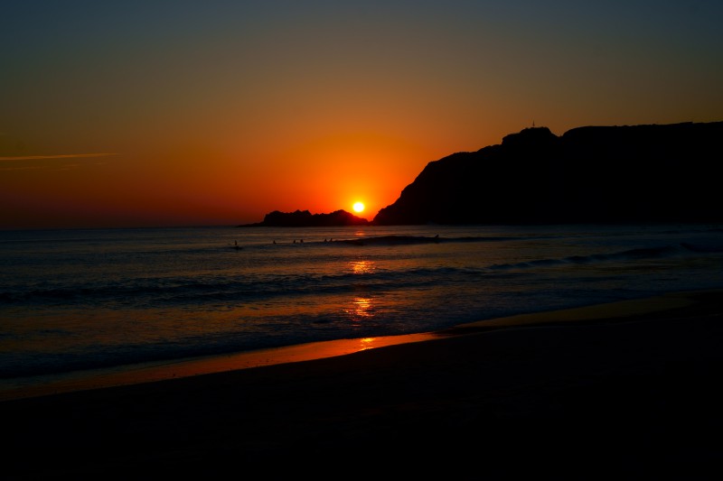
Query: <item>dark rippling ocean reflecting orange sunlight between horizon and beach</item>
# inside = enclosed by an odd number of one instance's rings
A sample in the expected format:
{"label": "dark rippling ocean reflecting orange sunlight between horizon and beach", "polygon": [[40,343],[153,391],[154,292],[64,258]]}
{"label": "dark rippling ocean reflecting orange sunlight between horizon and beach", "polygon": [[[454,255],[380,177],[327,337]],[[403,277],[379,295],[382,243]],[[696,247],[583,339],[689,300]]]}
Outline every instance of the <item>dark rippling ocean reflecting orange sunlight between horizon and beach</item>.
{"label": "dark rippling ocean reflecting orange sunlight between horizon and beach", "polygon": [[0,390],[723,286],[723,227],[0,231]]}

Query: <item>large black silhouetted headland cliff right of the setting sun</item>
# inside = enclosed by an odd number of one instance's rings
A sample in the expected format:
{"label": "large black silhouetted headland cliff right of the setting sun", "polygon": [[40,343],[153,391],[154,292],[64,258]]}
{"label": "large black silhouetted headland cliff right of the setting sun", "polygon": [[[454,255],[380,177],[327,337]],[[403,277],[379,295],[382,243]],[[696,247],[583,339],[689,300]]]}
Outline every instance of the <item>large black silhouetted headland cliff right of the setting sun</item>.
{"label": "large black silhouetted headland cliff right of the setting sun", "polygon": [[723,122],[547,127],[429,162],[372,224],[723,220]]}

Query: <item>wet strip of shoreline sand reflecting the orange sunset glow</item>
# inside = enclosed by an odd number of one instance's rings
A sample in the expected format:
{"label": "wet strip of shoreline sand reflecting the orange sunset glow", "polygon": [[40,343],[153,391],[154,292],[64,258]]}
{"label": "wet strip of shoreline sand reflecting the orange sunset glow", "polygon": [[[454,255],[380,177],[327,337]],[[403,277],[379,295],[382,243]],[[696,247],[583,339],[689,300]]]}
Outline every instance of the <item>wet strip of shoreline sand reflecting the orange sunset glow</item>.
{"label": "wet strip of shoreline sand reflecting the orange sunset glow", "polygon": [[543,327],[566,322],[580,323],[600,319],[607,319],[607,321],[611,319],[624,320],[624,318],[634,315],[654,314],[660,311],[690,306],[693,303],[689,298],[690,295],[703,292],[708,292],[708,290],[671,292],[651,298],[478,320],[424,333],[319,341],[218,356],[158,361],[132,366],[125,365],[117,368],[72,372],[62,375],[37,376],[23,378],[16,383],[11,379],[5,385],[0,383],[0,402],[123,385],[154,383],[265,365],[281,365],[327,357],[346,356],[368,349],[461,336],[501,328]]}

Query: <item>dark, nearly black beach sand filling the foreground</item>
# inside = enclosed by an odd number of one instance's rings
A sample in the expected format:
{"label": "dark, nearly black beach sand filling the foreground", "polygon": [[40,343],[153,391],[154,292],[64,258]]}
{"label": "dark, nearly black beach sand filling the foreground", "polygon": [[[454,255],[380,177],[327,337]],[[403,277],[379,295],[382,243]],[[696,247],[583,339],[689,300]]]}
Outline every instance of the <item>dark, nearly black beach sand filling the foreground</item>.
{"label": "dark, nearly black beach sand filling the foreground", "polygon": [[493,324],[0,402],[0,479],[721,479],[723,291]]}

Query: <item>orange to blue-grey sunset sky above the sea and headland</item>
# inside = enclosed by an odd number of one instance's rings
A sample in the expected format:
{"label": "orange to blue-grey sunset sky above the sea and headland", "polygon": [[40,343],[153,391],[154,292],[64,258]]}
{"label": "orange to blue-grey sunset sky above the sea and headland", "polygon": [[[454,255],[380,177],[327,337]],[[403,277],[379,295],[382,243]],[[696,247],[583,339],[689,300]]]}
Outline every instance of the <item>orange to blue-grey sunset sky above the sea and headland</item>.
{"label": "orange to blue-grey sunset sky above the sea and headland", "polygon": [[720,25],[719,0],[2,0],[0,229],[371,220],[533,123],[721,121]]}

